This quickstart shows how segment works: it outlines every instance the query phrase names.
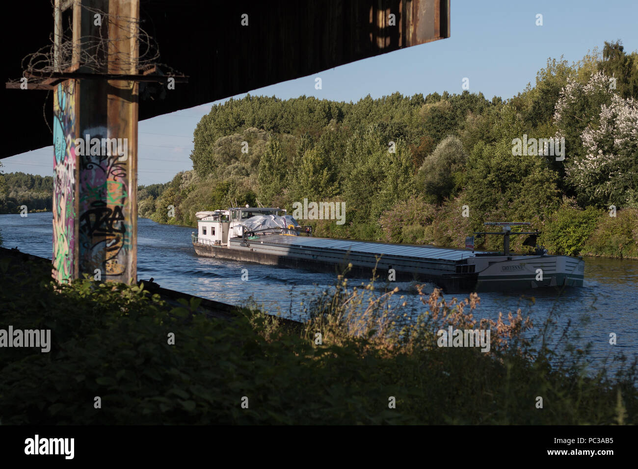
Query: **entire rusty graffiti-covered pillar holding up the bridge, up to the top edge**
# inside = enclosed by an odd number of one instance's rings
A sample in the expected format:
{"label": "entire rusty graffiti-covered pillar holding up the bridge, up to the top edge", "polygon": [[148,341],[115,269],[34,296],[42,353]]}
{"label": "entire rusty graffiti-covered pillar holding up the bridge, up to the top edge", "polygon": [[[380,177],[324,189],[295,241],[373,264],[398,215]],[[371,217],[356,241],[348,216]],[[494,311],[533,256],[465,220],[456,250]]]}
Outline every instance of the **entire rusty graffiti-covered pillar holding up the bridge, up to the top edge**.
{"label": "entire rusty graffiti-covered pillar holding up the bridge, up to the top edge", "polygon": [[73,64],[56,71],[78,78],[54,89],[53,276],[131,283],[137,281],[138,83],[100,73],[138,73],[139,0],[72,6],[56,0],[60,43],[64,5],[73,8]]}

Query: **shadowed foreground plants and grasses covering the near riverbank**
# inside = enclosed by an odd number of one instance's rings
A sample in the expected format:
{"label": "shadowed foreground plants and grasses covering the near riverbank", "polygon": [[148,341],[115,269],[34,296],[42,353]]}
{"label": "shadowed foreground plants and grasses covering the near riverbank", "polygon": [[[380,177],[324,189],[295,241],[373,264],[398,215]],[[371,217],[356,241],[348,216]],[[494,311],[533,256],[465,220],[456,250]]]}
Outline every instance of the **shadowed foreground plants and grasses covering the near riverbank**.
{"label": "shadowed foreground plants and grasses covering the near riverbank", "polygon": [[[291,326],[207,318],[143,286],[54,285],[47,262],[0,258],[0,283],[3,327],[51,330],[50,352],[3,348],[1,424],[636,423],[636,366],[614,346],[614,376],[592,371],[551,318],[477,321],[475,294],[421,293],[423,314],[396,327],[395,290],[339,278]],[[490,329],[489,352],[438,346],[449,325]]]}

